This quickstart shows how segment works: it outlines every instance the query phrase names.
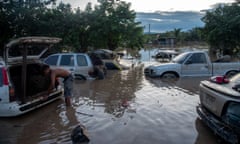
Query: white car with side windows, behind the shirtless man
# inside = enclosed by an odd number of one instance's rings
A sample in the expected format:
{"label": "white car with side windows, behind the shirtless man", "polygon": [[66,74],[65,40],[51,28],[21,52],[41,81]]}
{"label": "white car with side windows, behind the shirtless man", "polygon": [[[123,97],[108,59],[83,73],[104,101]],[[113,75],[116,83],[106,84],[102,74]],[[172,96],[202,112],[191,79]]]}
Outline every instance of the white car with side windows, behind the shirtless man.
{"label": "white car with side windows, behind the shirtless man", "polygon": [[56,53],[48,56],[44,62],[52,68],[64,68],[73,73],[75,78],[89,79],[93,64],[90,57],[85,53]]}

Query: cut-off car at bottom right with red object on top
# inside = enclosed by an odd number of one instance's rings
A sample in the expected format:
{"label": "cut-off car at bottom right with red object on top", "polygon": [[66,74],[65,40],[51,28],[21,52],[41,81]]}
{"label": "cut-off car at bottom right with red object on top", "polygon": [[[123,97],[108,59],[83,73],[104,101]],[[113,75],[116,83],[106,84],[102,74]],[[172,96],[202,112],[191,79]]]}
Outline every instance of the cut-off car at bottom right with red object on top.
{"label": "cut-off car at bottom right with red object on top", "polygon": [[239,143],[240,74],[201,81],[199,96],[197,113],[203,122],[228,143]]}

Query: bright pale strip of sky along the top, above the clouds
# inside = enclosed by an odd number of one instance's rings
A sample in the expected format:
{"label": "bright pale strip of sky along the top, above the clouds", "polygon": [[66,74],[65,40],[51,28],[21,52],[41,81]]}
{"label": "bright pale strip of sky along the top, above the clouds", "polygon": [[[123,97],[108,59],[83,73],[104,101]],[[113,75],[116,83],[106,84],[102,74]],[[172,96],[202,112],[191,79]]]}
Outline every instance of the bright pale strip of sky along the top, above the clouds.
{"label": "bright pale strip of sky along the top, above the clouds", "polygon": [[[97,0],[62,0],[73,8],[85,9],[88,2],[97,4]],[[125,0],[132,3],[131,9],[136,12],[155,11],[201,11],[210,9],[216,3],[229,3],[234,0]]]}

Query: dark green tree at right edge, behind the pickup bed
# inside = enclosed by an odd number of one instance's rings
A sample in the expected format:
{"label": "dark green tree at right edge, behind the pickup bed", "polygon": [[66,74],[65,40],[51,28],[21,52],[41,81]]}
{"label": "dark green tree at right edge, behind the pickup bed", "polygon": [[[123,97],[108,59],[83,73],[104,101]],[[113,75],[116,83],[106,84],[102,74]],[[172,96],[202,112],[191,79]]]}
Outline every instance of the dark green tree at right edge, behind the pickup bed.
{"label": "dark green tree at right edge, behind the pickup bed", "polygon": [[204,33],[211,51],[234,54],[240,50],[240,7],[237,3],[221,5],[203,17]]}

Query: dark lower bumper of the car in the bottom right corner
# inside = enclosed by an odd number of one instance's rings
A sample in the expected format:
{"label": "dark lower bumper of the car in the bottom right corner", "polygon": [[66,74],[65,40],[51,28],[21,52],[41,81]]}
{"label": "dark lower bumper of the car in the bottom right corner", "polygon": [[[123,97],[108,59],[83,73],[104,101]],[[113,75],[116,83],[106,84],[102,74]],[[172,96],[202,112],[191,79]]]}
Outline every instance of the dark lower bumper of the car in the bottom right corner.
{"label": "dark lower bumper of the car in the bottom right corner", "polygon": [[231,144],[238,144],[239,138],[237,133],[229,128],[225,123],[218,120],[214,115],[208,112],[201,104],[196,107],[198,115],[202,121],[213,130],[213,132],[219,135],[225,141]]}

